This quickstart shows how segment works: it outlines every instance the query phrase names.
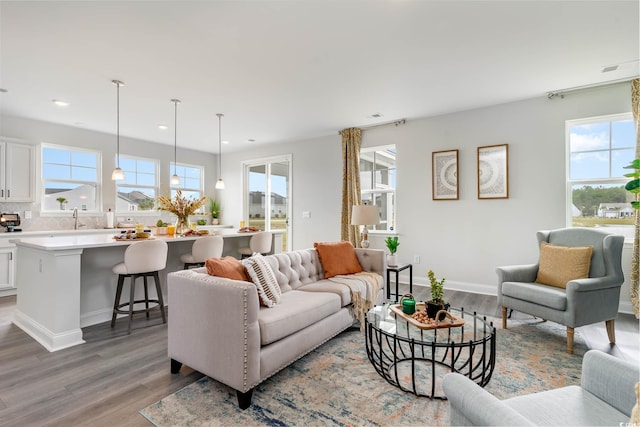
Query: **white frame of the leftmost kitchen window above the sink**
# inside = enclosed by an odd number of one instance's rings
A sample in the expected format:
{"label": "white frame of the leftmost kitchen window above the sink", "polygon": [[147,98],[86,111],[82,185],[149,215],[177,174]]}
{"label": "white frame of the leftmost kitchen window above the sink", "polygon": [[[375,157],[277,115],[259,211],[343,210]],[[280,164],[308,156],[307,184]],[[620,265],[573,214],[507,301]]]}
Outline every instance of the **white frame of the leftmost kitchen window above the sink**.
{"label": "white frame of the leftmost kitchen window above the sink", "polygon": [[[82,181],[82,180],[71,180],[71,179],[45,179],[44,177],[44,165],[45,163],[45,158],[44,158],[44,149],[45,148],[52,148],[52,149],[56,149],[56,150],[64,150],[64,151],[69,151],[69,152],[76,152],[76,153],[89,153],[89,154],[93,154],[96,156],[96,181]],[[91,214],[97,214],[97,213],[101,213],[102,212],[102,152],[97,151],[97,150],[88,150],[85,148],[78,148],[78,147],[71,147],[71,146],[67,146],[67,145],[58,145],[58,144],[50,144],[47,142],[42,142],[40,143],[40,147],[39,147],[39,157],[40,157],[40,165],[39,165],[39,169],[40,169],[40,188],[39,188],[39,195],[40,195],[40,215],[41,216],[68,216],[69,212],[67,211],[61,211],[61,210],[45,210],[44,208],[44,201],[46,199],[46,183],[47,182],[61,182],[61,183],[73,183],[73,184],[88,184],[88,185],[93,185],[95,186],[95,192],[96,192],[96,206],[95,209],[88,209],[88,210],[82,210],[81,206],[78,206],[79,210],[81,210],[82,213],[91,213]],[[75,206],[73,206],[75,207]],[[73,208],[71,207],[71,208]]]}

